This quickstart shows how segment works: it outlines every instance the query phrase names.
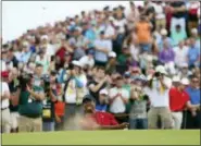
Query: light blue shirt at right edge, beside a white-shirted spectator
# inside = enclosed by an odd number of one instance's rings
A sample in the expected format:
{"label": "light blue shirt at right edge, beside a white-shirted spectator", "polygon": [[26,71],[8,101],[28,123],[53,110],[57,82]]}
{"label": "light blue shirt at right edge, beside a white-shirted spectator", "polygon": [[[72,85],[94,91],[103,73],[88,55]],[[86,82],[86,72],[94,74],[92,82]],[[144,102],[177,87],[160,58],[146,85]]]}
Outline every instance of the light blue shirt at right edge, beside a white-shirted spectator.
{"label": "light blue shirt at right edge, beside a white-shirted spectator", "polygon": [[193,65],[194,62],[199,59],[200,52],[199,49],[196,47],[191,47],[188,50],[188,64]]}

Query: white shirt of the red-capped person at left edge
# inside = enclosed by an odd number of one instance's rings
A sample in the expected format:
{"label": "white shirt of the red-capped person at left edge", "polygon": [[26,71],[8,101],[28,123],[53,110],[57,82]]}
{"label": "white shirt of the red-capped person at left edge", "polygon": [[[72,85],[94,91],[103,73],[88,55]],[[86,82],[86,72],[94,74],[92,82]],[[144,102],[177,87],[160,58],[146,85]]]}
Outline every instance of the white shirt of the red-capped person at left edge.
{"label": "white shirt of the red-capped person at left edge", "polygon": [[[10,93],[8,83],[1,82],[0,86],[1,86],[0,87],[1,88],[1,96],[4,96],[5,92]],[[4,108],[9,108],[9,99],[3,99],[1,101],[1,109],[4,109]]]}

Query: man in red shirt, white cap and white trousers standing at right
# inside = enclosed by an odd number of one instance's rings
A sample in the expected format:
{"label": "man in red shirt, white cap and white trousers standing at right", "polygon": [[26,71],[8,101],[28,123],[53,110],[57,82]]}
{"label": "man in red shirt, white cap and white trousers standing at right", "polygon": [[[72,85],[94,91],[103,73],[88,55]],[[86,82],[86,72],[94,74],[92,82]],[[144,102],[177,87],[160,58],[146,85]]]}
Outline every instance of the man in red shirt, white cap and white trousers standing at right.
{"label": "man in red shirt, white cap and white trousers standing at right", "polygon": [[191,112],[193,112],[193,108],[190,102],[189,95],[185,90],[186,86],[189,85],[188,78],[183,78],[180,84],[177,87],[173,87],[169,90],[169,108],[172,111],[174,129],[179,130],[183,123],[183,111],[184,108],[188,108]]}

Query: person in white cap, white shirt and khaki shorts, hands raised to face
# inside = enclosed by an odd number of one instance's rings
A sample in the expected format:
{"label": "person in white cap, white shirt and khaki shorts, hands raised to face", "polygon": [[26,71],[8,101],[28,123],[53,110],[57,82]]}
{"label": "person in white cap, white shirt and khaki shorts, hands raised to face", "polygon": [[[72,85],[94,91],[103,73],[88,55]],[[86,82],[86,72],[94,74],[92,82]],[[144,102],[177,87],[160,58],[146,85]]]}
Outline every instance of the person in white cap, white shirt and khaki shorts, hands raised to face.
{"label": "person in white cap, white shirt and khaki shorts, hands raised to face", "polygon": [[165,74],[164,66],[158,65],[154,76],[150,80],[149,88],[146,90],[151,102],[151,108],[148,112],[149,129],[156,129],[158,117],[161,119],[162,127],[172,129],[172,117],[168,107],[168,90],[172,83],[169,78],[164,76]]}

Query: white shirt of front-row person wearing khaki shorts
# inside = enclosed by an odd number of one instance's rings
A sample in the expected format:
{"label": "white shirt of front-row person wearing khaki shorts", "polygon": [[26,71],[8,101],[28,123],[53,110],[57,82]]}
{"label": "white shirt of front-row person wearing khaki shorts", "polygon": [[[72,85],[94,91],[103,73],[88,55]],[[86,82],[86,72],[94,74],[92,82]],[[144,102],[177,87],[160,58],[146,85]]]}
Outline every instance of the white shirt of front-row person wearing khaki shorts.
{"label": "white shirt of front-row person wearing khaki shorts", "polygon": [[[158,84],[159,83],[159,84]],[[158,89],[161,86],[160,82],[156,82],[153,80],[153,87],[152,88],[146,88],[145,93],[149,96],[151,106],[152,107],[168,107],[169,106],[169,97],[168,92],[172,86],[171,78],[165,77],[164,83],[168,87],[167,89],[164,89],[163,93]]]}

